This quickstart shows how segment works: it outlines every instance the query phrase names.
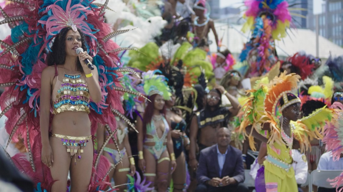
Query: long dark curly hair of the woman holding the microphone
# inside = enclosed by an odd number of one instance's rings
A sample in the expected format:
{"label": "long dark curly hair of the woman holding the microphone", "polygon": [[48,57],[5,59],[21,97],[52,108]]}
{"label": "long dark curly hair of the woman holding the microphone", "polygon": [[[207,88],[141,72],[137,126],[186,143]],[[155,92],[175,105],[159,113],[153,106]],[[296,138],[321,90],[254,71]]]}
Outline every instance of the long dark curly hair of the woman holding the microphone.
{"label": "long dark curly hair of the woman holding the microphone", "polygon": [[[66,61],[66,36],[69,30],[72,30],[71,27],[66,27],[61,30],[61,32],[56,36],[54,43],[51,46],[51,52],[48,53],[47,64],[48,66],[52,65],[64,65]],[[82,31],[78,28],[78,31],[81,36],[81,47],[83,50],[87,50],[85,36]],[[78,58],[77,69],[83,72],[80,60]]]}

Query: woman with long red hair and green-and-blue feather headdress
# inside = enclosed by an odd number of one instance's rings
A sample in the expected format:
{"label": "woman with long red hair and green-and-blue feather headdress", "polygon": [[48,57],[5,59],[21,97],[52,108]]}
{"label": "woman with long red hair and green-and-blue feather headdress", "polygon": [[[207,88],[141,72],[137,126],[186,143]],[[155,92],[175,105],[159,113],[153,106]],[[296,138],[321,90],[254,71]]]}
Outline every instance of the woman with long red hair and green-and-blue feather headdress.
{"label": "woman with long red hair and green-and-blue feather headdress", "polygon": [[143,119],[137,119],[139,168],[157,191],[165,192],[169,174],[176,168],[170,121],[165,116],[165,100],[170,100],[170,90],[165,77],[154,73],[143,74],[144,91],[151,102],[144,110]]}

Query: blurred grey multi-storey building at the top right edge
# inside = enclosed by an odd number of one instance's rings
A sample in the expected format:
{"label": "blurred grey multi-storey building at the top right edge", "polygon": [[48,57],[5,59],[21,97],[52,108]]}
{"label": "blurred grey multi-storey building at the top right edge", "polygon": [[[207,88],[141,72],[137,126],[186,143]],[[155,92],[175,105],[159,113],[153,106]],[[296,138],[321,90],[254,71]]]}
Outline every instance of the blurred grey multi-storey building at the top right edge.
{"label": "blurred grey multi-storey building at the top right edge", "polygon": [[[343,0],[326,0],[318,15],[319,35],[343,46]],[[308,17],[308,28],[316,30],[316,15]]]}

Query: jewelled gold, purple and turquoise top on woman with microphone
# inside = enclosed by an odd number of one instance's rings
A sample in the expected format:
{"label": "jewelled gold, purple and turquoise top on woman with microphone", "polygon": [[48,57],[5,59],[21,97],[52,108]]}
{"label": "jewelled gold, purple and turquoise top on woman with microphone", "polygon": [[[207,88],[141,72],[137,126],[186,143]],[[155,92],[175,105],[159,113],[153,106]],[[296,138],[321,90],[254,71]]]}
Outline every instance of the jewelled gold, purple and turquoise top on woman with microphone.
{"label": "jewelled gold, purple and turquoise top on woman with microphone", "polygon": [[[54,94],[56,94],[54,96]],[[85,111],[88,114],[90,94],[88,85],[81,74],[66,74],[64,72],[63,79],[60,81],[57,76],[54,91],[52,91],[51,99],[52,114],[59,114],[64,111]]]}

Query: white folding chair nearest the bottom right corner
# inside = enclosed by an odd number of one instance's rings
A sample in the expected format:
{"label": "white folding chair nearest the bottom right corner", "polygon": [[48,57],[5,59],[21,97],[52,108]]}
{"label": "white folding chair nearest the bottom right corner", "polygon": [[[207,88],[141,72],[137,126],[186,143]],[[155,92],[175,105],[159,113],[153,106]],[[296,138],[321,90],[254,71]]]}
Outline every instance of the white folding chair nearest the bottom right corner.
{"label": "white folding chair nearest the bottom right corner", "polygon": [[328,179],[334,179],[339,176],[343,170],[313,170],[309,183],[309,191],[312,191],[312,185],[324,188],[333,188]]}

